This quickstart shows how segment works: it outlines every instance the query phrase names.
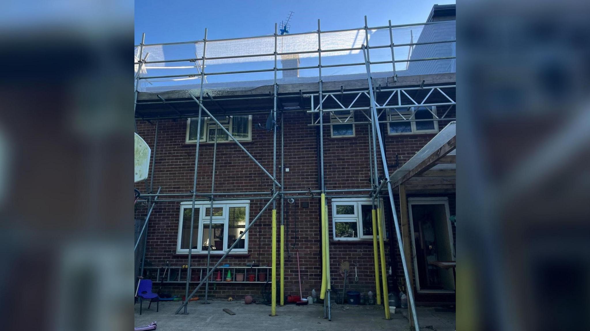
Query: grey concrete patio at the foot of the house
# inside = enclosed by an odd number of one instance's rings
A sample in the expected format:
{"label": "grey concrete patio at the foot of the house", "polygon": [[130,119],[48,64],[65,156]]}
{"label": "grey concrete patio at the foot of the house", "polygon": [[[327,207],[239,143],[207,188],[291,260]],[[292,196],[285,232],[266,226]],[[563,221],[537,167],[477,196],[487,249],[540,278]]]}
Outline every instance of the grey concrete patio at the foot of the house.
{"label": "grey concrete patio at the foot of the house", "polygon": [[[334,304],[332,322],[323,319],[323,305],[277,306],[277,316],[270,317],[270,306],[266,304],[244,304],[243,300],[227,302],[213,300],[211,304],[191,302],[189,315],[174,315],[181,302],[160,302],[156,313],[155,304],[148,310],[144,302],[142,315],[139,303],[135,305],[135,325],[158,322],[158,330],[409,330],[407,310],[396,310],[391,320],[383,319],[381,306],[350,306]],[[230,309],[235,315],[223,311]],[[435,307],[417,307],[420,328],[424,330],[453,331],[455,313],[439,312]]]}

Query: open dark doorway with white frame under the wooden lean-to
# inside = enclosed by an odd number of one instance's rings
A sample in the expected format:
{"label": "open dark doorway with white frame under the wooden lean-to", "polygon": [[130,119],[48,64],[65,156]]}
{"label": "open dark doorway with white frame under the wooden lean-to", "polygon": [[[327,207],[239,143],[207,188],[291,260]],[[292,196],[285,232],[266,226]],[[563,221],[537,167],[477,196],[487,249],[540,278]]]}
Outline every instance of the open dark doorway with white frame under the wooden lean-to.
{"label": "open dark doorway with white frame under the wooden lean-to", "polygon": [[432,262],[455,261],[453,230],[448,199],[408,198],[410,231],[413,234],[415,282],[418,292],[454,292],[453,269]]}

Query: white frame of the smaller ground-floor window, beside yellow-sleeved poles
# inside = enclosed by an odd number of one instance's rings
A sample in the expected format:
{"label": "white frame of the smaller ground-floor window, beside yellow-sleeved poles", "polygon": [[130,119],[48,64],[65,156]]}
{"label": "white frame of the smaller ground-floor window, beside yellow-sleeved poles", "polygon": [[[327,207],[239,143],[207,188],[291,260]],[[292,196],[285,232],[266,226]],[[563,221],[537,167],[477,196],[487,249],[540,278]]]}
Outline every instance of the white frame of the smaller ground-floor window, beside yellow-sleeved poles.
{"label": "white frame of the smaller ground-floor window, beside yellow-sleeved poles", "polygon": [[[372,240],[373,236],[366,236],[363,233],[363,223],[362,223],[362,207],[363,205],[372,206],[371,198],[333,198],[332,199],[332,240],[339,240],[339,241],[362,241],[362,240]],[[381,222],[382,222],[382,229],[385,229],[385,225],[383,223],[383,201],[379,199],[375,201],[376,207],[381,208]],[[348,205],[348,206],[355,206],[355,213],[353,215],[346,214],[346,215],[337,215],[336,214],[336,206],[337,205]],[[336,222],[344,223],[356,221],[356,229],[358,230],[358,237],[336,237]],[[376,229],[373,229],[373,234],[375,234]],[[379,236],[377,236],[379,238]]]}

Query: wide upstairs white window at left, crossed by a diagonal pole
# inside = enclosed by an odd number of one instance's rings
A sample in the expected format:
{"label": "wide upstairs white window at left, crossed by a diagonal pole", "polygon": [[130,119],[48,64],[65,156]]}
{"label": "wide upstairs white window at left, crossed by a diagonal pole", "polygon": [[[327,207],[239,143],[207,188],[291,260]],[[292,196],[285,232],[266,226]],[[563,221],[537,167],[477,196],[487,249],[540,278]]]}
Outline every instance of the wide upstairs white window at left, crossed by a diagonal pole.
{"label": "wide upstairs white window at left, crossed by a diagonal pole", "polygon": [[[217,120],[225,130],[229,131],[237,141],[252,140],[252,115],[233,115],[221,116]],[[186,143],[196,143],[196,133],[198,129],[199,118],[189,118],[186,120]],[[201,118],[201,143],[215,142],[215,128],[217,128],[217,142],[227,143],[230,137],[215,123],[210,117]]]}

